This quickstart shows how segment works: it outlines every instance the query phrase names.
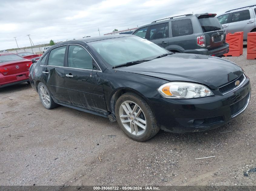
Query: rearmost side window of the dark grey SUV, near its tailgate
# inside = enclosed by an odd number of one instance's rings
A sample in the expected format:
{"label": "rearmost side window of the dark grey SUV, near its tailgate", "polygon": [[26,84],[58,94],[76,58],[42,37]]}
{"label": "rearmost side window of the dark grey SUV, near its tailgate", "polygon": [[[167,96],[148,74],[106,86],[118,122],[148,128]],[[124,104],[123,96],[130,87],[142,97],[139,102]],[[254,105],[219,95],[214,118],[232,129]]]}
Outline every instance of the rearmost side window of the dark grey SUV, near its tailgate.
{"label": "rearmost side window of the dark grey SUV, near its tailgate", "polygon": [[171,31],[173,37],[193,34],[193,26],[191,19],[171,21]]}

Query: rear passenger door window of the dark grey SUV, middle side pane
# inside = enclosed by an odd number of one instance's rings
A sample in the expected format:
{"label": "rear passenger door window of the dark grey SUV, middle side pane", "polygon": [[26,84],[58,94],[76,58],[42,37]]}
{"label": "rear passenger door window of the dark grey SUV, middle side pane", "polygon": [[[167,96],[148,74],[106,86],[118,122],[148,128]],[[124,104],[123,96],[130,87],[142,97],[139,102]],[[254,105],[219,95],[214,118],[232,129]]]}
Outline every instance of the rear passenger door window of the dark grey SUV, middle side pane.
{"label": "rear passenger door window of the dark grey SUV, middle side pane", "polygon": [[150,26],[149,31],[150,31],[149,40],[166,38],[169,36],[168,35],[168,24],[166,24],[166,23]]}

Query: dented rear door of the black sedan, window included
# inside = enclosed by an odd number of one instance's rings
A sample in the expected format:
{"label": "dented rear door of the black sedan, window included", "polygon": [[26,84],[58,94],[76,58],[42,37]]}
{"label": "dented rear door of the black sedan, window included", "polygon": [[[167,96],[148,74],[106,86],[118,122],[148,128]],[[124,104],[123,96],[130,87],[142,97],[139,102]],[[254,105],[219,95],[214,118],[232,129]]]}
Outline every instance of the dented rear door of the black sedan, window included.
{"label": "dented rear door of the black sedan, window included", "polygon": [[52,97],[57,101],[67,103],[69,96],[65,89],[64,78],[65,51],[66,45],[50,51],[46,65],[42,69],[42,78]]}

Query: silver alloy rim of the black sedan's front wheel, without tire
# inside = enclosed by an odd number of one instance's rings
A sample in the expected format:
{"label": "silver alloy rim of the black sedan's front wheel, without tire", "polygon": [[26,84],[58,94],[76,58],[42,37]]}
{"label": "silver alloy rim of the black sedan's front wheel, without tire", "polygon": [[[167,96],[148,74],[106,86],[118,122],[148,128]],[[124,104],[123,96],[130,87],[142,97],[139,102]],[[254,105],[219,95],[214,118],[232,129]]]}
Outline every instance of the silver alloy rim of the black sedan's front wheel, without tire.
{"label": "silver alloy rim of the black sedan's front wheel, without tire", "polygon": [[147,121],[142,109],[133,101],[124,101],[119,108],[119,117],[125,129],[133,135],[142,135]]}

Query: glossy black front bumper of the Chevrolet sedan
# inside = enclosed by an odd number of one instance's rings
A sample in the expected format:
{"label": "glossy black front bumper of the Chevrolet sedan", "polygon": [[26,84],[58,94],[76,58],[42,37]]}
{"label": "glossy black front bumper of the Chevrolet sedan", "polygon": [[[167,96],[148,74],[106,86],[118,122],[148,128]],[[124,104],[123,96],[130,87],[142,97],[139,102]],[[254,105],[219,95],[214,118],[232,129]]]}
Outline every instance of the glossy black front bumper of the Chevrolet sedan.
{"label": "glossy black front bumper of the Chevrolet sedan", "polygon": [[[161,129],[184,133],[214,129],[230,122],[238,116],[232,117],[231,107],[243,98],[247,98],[248,94],[250,96],[250,91],[251,84],[246,78],[240,88],[225,95],[216,90],[213,91],[214,96],[194,99],[146,99]],[[241,113],[243,111],[241,110]]]}

